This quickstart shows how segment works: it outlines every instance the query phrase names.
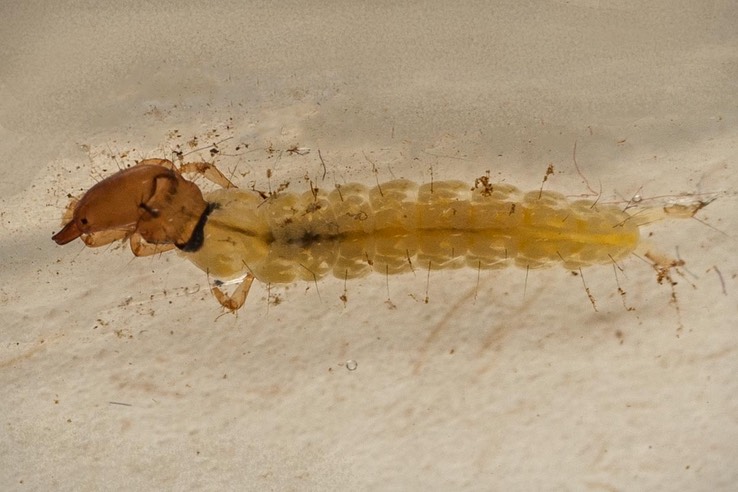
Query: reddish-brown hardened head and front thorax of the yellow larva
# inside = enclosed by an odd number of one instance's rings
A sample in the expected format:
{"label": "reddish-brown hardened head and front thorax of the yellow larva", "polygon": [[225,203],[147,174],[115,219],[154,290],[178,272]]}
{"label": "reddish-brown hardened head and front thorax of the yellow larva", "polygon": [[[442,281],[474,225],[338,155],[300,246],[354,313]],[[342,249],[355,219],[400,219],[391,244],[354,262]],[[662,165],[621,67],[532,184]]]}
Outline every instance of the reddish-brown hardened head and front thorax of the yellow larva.
{"label": "reddish-brown hardened head and front thorax of the yellow larva", "polygon": [[[75,204],[71,220],[52,239],[66,244],[98,233],[114,233],[110,236],[114,239],[137,233],[152,244],[185,245],[207,210],[197,185],[176,169],[140,164],[90,188]],[[86,242],[100,245],[111,240]]]}

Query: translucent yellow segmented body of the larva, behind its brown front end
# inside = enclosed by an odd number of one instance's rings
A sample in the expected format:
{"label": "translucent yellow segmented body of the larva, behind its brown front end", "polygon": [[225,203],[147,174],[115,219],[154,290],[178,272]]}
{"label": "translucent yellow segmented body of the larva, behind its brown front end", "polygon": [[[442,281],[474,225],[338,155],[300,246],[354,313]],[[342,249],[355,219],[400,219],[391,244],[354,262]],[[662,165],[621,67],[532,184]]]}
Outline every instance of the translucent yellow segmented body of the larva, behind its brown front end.
{"label": "translucent yellow segmented body of the larva, behind its brown front end", "polygon": [[511,264],[577,269],[623,258],[639,239],[638,225],[615,207],[506,184],[396,180],[266,200],[237,189],[205,198],[216,208],[203,247],[183,254],[221,279],[251,273],[280,283]]}

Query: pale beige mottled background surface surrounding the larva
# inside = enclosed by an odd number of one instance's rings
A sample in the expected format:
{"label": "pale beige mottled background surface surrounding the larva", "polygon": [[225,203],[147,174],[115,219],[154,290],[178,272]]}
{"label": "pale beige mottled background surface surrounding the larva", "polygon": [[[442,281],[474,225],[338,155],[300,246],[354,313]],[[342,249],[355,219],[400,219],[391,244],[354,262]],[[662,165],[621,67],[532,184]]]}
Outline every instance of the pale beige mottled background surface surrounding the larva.
{"label": "pale beige mottled background surface surrounding the larva", "polygon": [[[735,486],[733,2],[0,10],[0,489]],[[345,306],[335,279],[268,309],[255,286],[219,317],[175,254],[52,243],[111,155],[194,136],[233,136],[216,162],[244,186],[269,168],[305,189],[320,149],[326,186],[372,184],[373,162],[380,179],[490,169],[535,189],[552,163],[547,186],[572,195],[576,141],[603,199],[723,192],[700,217],[727,235],[646,231],[687,261],[681,328],[635,258],[619,276],[635,311],[612,269],[585,271],[597,313],[580,278],[525,287],[513,269],[370,277]]]}

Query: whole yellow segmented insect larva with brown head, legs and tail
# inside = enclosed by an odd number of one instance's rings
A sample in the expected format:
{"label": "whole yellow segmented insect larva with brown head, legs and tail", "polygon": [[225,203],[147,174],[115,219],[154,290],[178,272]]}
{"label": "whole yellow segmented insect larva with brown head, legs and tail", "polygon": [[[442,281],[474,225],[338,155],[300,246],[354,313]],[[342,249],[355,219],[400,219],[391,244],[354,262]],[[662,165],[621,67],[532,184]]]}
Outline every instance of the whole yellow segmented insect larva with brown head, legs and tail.
{"label": "whole yellow segmented insect larva with brown head, legs and tail", "polygon": [[[182,173],[203,174],[222,189],[203,195]],[[370,272],[423,268],[526,269],[560,264],[579,270],[633,253],[639,227],[687,218],[709,202],[635,213],[591,200],[528,193],[488,177],[473,185],[399,179],[367,187],[337,185],[269,196],[235,187],[215,166],[148,159],[104,179],[70,204],[57,244],[88,246],[129,239],[137,256],[178,248],[216,279],[212,292],[239,309],[254,279],[352,279]],[[655,260],[652,260],[655,261]],[[668,265],[667,265],[668,266]],[[662,268],[666,268],[662,266]],[[237,283],[232,295],[220,286]]]}

